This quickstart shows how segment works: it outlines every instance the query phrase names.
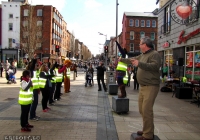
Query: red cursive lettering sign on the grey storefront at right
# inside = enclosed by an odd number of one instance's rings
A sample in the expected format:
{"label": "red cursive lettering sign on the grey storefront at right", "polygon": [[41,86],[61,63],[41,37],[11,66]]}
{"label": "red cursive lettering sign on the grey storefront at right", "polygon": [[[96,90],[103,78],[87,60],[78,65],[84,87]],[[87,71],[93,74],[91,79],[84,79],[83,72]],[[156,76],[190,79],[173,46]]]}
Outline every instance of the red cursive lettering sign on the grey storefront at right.
{"label": "red cursive lettering sign on the grey storefront at right", "polygon": [[200,28],[196,29],[195,31],[189,33],[187,36],[183,37],[185,31],[181,31],[180,35],[179,35],[179,40],[177,42],[177,44],[181,44],[182,42],[186,43],[187,40],[189,40],[191,37],[197,35],[200,33]]}

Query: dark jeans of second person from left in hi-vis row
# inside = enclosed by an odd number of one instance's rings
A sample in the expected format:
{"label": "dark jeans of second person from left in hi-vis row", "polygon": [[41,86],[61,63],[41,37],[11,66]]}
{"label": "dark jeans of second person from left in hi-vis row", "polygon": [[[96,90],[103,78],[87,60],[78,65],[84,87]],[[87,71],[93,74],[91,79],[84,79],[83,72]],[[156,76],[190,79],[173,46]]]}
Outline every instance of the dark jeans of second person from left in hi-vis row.
{"label": "dark jeans of second person from left in hi-vis row", "polygon": [[38,105],[38,91],[39,89],[33,90],[33,102],[31,104],[31,109],[30,109],[30,119],[33,119],[36,117],[36,109]]}

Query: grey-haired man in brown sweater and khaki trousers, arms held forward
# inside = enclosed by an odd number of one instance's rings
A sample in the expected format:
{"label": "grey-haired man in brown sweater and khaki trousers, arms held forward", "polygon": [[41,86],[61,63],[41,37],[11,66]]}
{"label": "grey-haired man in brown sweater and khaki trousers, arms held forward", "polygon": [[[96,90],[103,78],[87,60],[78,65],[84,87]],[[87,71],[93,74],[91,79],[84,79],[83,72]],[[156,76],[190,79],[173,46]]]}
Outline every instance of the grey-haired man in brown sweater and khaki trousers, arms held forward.
{"label": "grey-haired man in brown sweater and khaki trousers, arms held forward", "polygon": [[140,39],[141,55],[120,61],[138,67],[137,80],[140,84],[138,105],[139,112],[143,118],[143,131],[138,131],[140,135],[135,140],[153,140],[154,117],[153,105],[159,92],[161,57],[154,50],[153,43],[149,37]]}

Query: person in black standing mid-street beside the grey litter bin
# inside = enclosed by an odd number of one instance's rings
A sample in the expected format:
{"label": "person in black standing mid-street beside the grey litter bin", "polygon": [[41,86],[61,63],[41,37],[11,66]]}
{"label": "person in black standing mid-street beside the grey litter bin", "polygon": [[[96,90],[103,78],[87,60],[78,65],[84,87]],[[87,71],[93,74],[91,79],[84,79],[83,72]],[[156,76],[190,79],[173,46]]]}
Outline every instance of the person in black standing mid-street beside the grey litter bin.
{"label": "person in black standing mid-street beside the grey litter bin", "polygon": [[[97,69],[98,91],[101,91],[101,83],[102,83],[104,91],[107,92],[107,88],[104,83],[104,72],[106,71],[106,68],[105,68],[103,62],[99,62],[99,66],[97,66],[96,69]],[[101,83],[100,83],[100,81],[101,81]]]}

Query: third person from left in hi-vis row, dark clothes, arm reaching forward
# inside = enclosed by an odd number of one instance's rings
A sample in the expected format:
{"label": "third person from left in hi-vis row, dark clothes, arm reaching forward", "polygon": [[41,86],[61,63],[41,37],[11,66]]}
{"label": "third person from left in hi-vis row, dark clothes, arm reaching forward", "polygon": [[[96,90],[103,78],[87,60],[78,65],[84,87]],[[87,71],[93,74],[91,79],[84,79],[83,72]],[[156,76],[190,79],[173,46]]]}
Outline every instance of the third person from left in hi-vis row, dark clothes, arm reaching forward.
{"label": "third person from left in hi-vis row, dark clothes, arm reaching forward", "polygon": [[50,110],[50,108],[47,106],[48,100],[49,100],[49,96],[50,96],[50,89],[52,87],[51,84],[51,79],[53,77],[53,75],[49,75],[48,74],[48,65],[47,64],[43,64],[40,68],[40,77],[39,77],[39,81],[40,81],[40,90],[42,92],[42,109],[43,112],[47,112]]}

